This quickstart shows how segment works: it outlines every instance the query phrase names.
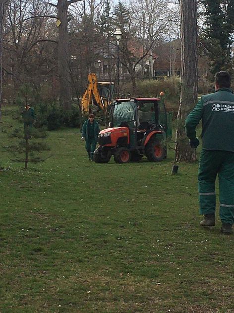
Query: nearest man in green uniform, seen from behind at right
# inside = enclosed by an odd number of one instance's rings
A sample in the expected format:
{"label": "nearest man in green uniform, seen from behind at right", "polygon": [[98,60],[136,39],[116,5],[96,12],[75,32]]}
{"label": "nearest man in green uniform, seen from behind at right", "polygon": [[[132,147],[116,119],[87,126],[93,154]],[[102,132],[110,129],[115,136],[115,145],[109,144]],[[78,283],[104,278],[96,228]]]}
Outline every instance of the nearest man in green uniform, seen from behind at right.
{"label": "nearest man in green uniform, seen from behind at right", "polygon": [[221,232],[233,234],[234,224],[234,94],[231,77],[215,75],[215,92],[201,97],[188,115],[185,128],[192,148],[197,148],[196,125],[202,120],[202,151],[198,171],[200,214],[203,227],[215,226],[215,180],[219,177]]}

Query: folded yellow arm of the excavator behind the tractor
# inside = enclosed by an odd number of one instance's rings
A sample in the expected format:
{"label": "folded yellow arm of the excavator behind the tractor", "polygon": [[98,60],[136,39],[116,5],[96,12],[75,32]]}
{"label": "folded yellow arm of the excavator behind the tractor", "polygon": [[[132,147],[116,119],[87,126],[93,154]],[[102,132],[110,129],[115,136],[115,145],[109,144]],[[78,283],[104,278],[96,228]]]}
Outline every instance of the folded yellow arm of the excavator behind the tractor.
{"label": "folded yellow arm of the excavator behind the tractor", "polygon": [[81,99],[82,111],[89,112],[89,107],[92,102],[92,99],[94,99],[97,102],[97,105],[102,110],[105,109],[103,99],[98,90],[98,80],[94,73],[88,75],[88,86]]}

